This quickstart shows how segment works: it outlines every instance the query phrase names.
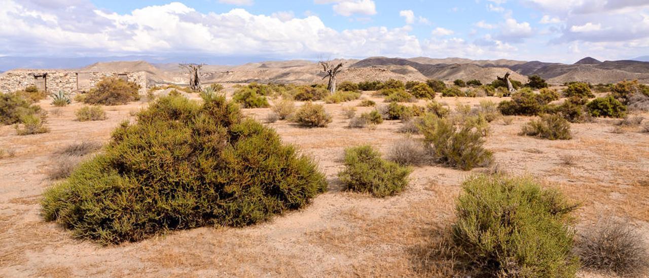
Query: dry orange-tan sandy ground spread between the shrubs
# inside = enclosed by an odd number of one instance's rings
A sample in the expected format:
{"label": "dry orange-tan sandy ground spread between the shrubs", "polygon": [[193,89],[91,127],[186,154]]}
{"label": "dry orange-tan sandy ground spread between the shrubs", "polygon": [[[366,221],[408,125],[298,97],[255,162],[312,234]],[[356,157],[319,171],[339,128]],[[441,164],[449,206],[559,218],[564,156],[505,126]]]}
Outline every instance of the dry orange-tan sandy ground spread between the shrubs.
{"label": "dry orange-tan sandy ground spread between the shrubs", "polygon": [[[231,89],[230,89],[231,90]],[[365,93],[367,97],[369,94]],[[373,98],[380,102],[381,99]],[[485,98],[441,97],[437,101],[477,105]],[[286,143],[312,155],[326,173],[330,190],[312,205],[267,223],[240,229],[202,227],[176,231],[137,243],[103,247],[77,240],[40,215],[41,194],[53,181],[57,150],[74,142],[107,142],[131,112],[146,103],[106,107],[108,119],[79,122],[73,103],[50,112],[50,133],[17,136],[0,127],[0,147],[15,157],[0,159],[0,276],[2,277],[323,277],[323,276],[447,276],[452,260],[435,254],[448,223],[461,181],[481,169],[459,171],[443,166],[415,168],[402,194],[376,199],[345,192],[336,174],[345,147],[371,144],[384,153],[404,135],[400,121],[376,129],[348,129],[343,106],[325,105],[334,116],[326,128],[304,129],[287,121],[269,124]],[[358,113],[370,110],[358,107]],[[265,119],[268,108],[245,109]],[[649,121],[649,114],[643,115]],[[577,227],[588,229],[600,217],[617,216],[637,226],[649,242],[649,134],[639,128],[611,133],[618,120],[572,124],[574,138],[539,140],[519,136],[529,117],[511,125],[491,123],[486,147],[501,170],[527,174],[556,186],[580,201]],[[562,164],[572,155],[571,166]],[[483,169],[484,170],[484,169]],[[582,271],[582,277],[606,277]]]}

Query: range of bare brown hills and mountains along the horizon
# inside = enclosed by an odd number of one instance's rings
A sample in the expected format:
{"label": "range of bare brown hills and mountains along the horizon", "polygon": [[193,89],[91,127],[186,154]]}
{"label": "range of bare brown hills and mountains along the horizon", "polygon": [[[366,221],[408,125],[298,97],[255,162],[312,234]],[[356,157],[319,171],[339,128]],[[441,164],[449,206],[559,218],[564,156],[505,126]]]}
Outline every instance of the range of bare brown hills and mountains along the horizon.
{"label": "range of bare brown hills and mountains along the horizon", "polygon": [[[119,57],[138,58],[138,57]],[[139,57],[141,58],[141,57]],[[642,57],[639,57],[642,58]],[[3,61],[11,57],[0,57]],[[178,67],[173,59],[148,57],[135,62],[109,62],[101,58],[90,66],[79,66],[83,58],[73,60],[43,60],[38,63],[28,58],[14,59],[14,63],[26,63],[20,68],[42,68],[38,65],[52,65],[47,68],[76,68],[80,71],[147,71],[150,84],[183,83],[188,75]],[[117,58],[114,58],[117,59]],[[239,66],[223,65],[217,58],[193,58],[192,61],[204,62],[201,71],[204,82],[322,82],[321,66],[310,60],[260,61]],[[263,60],[262,60],[263,59]],[[190,59],[186,59],[190,60]],[[530,75],[539,75],[550,84],[562,84],[570,81],[611,83],[623,80],[638,79],[649,83],[649,62],[639,60],[600,61],[591,57],[583,58],[574,64],[561,64],[540,61],[521,60],[470,60],[466,58],[386,58],[370,57],[363,60],[339,59],[332,62],[343,62],[345,66],[339,74],[339,81],[360,82],[365,80],[398,79],[402,81],[424,81],[440,79],[465,81],[477,79],[483,83],[491,82],[498,76],[511,72],[510,78],[526,82]],[[220,64],[220,65],[218,65]],[[54,66],[59,65],[59,66]],[[6,69],[6,68],[0,68]]]}

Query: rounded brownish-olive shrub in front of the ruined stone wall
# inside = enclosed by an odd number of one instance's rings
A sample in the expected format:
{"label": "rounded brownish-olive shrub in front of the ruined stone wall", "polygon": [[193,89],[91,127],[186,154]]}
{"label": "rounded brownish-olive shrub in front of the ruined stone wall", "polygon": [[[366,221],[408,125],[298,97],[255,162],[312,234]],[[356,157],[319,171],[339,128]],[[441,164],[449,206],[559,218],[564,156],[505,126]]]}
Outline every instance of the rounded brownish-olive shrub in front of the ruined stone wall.
{"label": "rounded brownish-olive shrub in front of the ruined stone wall", "polygon": [[91,105],[125,105],[140,99],[140,85],[117,77],[104,77],[86,94],[84,103]]}

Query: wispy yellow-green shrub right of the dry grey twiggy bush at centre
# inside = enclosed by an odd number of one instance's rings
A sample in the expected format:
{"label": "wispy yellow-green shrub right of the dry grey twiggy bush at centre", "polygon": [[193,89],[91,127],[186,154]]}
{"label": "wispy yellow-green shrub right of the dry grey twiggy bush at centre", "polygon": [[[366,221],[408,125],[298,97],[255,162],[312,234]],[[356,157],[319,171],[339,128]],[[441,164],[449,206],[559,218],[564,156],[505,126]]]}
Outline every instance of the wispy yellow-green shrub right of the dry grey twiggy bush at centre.
{"label": "wispy yellow-green shrub right of the dry grey twiggy bush at centre", "polygon": [[491,162],[492,153],[484,149],[481,132],[471,125],[458,129],[445,118],[427,114],[419,125],[419,131],[424,134],[424,143],[432,156],[440,163],[471,170]]}

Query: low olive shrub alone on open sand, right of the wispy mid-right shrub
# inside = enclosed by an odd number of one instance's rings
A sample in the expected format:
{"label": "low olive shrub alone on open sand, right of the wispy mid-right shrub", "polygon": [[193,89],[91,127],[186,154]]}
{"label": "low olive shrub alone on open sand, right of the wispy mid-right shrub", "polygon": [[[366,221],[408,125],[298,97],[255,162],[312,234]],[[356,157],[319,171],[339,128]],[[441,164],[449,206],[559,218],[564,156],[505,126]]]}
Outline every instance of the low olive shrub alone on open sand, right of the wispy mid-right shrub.
{"label": "low olive shrub alone on open sand, right of the wispy mid-right shrub", "polygon": [[539,120],[531,120],[522,127],[522,134],[550,140],[569,140],[570,123],[556,114],[545,114]]}

